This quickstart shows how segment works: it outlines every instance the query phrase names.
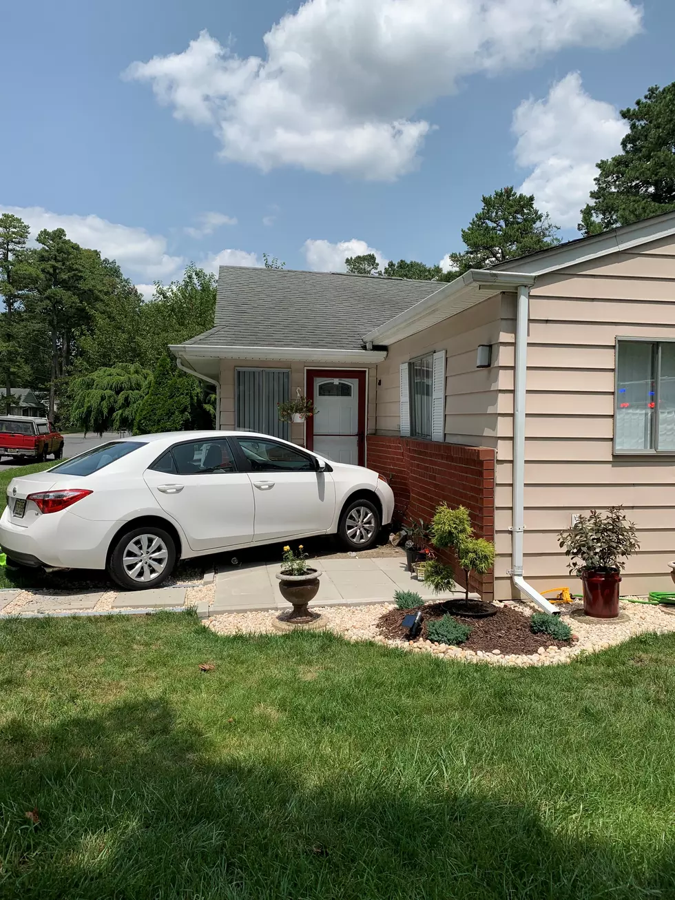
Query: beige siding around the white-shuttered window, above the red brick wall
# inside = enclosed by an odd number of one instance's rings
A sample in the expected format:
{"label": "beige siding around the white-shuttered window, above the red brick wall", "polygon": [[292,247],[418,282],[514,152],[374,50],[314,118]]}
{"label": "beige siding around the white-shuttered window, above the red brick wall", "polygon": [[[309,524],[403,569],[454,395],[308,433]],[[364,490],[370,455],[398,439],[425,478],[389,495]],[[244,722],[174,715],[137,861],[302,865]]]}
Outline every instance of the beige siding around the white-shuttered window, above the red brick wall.
{"label": "beige siding around the white-shuttered window, above the red brick wall", "polygon": [[[476,368],[480,344],[492,345],[490,368]],[[433,328],[389,347],[377,366],[377,433],[399,435],[401,428],[401,363],[446,351],[446,441],[469,446],[495,446],[499,404],[497,357],[500,347],[500,297],[458,313]]]}

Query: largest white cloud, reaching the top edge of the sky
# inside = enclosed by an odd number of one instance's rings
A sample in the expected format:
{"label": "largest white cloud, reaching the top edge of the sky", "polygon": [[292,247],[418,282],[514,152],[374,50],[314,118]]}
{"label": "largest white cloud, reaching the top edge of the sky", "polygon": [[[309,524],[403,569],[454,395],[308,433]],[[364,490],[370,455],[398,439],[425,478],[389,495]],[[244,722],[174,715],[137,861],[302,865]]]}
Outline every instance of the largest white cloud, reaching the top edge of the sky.
{"label": "largest white cloud, reaching the top edge of the sky", "polygon": [[415,112],[464,76],[616,47],[641,22],[633,0],[307,0],[267,31],[265,59],[202,31],[123,76],[211,128],[227,160],[391,180],[417,165],[432,128]]}

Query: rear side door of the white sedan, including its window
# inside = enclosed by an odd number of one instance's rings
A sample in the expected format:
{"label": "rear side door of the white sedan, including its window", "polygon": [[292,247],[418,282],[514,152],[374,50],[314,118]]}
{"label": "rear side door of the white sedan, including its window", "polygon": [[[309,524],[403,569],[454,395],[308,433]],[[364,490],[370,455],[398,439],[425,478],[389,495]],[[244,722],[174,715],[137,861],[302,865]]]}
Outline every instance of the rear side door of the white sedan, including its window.
{"label": "rear side door of the white sedan, including its window", "polygon": [[159,506],[183,528],[193,550],[219,550],[253,540],[253,488],[247,473],[237,471],[226,441],[175,445],[143,478]]}

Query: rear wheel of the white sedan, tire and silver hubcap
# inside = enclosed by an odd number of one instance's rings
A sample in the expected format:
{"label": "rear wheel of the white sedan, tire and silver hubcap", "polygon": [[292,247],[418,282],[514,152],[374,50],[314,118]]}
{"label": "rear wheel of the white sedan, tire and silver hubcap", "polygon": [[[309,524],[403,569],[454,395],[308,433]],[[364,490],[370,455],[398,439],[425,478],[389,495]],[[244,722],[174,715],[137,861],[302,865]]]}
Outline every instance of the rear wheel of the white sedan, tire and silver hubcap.
{"label": "rear wheel of the white sedan, tire and silver hubcap", "polygon": [[[140,567],[135,563],[136,559],[139,559]],[[158,565],[161,565],[160,570],[153,574]],[[106,571],[112,581],[125,590],[148,590],[164,584],[174,566],[174,538],[164,528],[141,525],[115,538]]]}

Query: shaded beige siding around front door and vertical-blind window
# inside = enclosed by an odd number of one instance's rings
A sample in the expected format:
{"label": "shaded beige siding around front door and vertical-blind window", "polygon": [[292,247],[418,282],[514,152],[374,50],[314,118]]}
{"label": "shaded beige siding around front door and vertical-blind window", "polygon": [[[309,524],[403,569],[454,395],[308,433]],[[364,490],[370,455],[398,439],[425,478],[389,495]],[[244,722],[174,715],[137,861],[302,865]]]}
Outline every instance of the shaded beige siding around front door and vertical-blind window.
{"label": "shaded beige siding around front door and vertical-blind window", "polygon": [[[266,362],[250,359],[221,359],[220,360],[220,428],[235,428],[235,370],[236,369],[285,369],[291,372],[291,396],[295,396],[295,389],[300,388],[302,393],[307,391],[305,384],[305,370],[311,369],[348,369],[348,366],[326,365],[314,363],[311,360],[293,360],[292,362]],[[375,393],[377,379],[375,366],[354,366],[357,369],[366,370],[366,405],[367,405],[367,429],[368,434],[375,430]],[[305,427],[303,424],[291,424],[291,438],[294,444],[305,445]]]}

